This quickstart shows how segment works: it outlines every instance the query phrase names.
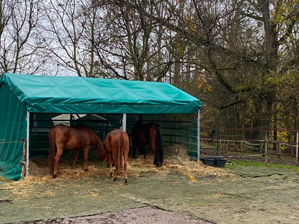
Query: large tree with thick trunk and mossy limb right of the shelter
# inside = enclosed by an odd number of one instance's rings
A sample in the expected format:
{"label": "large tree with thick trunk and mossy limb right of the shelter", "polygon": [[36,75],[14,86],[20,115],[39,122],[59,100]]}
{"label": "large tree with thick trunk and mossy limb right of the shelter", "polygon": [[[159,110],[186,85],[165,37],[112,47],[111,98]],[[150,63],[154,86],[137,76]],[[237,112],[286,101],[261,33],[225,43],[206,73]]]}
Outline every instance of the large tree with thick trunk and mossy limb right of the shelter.
{"label": "large tree with thick trunk and mossy limb right of the shelter", "polygon": [[203,76],[209,74],[211,79],[206,81],[216,92],[215,96],[201,96],[218,109],[243,105],[242,113],[250,111],[251,115],[246,126],[270,126],[273,102],[278,101],[279,89],[283,87],[277,80],[287,77],[286,72],[298,58],[281,57],[287,49],[294,49],[286,40],[297,38],[297,4],[194,1],[207,41],[198,48],[197,55],[202,60],[197,62],[197,69]]}

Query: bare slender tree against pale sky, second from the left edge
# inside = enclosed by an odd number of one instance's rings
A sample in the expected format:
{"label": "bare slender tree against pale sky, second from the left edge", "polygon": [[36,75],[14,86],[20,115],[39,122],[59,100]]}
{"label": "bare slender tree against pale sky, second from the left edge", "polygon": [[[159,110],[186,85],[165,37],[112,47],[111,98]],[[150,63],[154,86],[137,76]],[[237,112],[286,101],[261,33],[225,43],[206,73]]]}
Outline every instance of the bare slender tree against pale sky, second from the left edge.
{"label": "bare slender tree against pale sky, second from the left edge", "polygon": [[66,74],[93,77],[96,7],[91,1],[48,1],[45,35],[52,63]]}

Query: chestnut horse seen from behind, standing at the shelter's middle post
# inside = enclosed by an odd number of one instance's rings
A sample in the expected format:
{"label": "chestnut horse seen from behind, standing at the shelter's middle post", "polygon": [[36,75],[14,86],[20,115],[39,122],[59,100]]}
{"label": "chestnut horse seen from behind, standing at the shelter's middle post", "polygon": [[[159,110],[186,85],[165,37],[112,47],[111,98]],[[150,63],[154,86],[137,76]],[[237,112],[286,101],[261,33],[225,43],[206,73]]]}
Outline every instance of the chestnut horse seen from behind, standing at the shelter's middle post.
{"label": "chestnut horse seen from behind, standing at the shelter's middle post", "polygon": [[129,138],[127,133],[121,129],[109,132],[105,138],[104,148],[108,154],[108,165],[110,167],[109,177],[112,178],[112,165],[114,163],[115,173],[113,180],[116,180],[118,170],[121,170],[122,167],[122,157],[124,157],[125,184],[128,184],[127,160],[129,153]]}

